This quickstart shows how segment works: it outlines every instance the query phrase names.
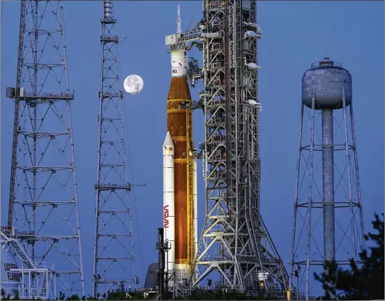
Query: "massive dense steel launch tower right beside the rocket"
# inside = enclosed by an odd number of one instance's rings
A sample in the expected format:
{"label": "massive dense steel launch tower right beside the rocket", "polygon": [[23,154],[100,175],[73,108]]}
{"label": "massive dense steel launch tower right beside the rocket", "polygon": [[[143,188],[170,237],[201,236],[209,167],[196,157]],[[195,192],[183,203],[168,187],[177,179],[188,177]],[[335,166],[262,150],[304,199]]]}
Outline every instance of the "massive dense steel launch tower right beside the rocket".
{"label": "massive dense steel launch tower right beside the rocket", "polygon": [[227,287],[284,292],[288,275],[260,215],[257,4],[203,6],[206,219],[196,283],[216,270]]}

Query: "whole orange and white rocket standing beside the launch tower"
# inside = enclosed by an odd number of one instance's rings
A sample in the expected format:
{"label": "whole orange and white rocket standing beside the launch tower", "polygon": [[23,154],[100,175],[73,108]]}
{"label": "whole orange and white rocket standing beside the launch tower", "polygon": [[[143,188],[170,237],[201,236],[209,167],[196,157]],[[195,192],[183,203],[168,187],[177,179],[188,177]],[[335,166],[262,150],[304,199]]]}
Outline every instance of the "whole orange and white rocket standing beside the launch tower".
{"label": "whole orange and white rocket standing beside the launch tower", "polygon": [[[178,6],[177,33],[181,33]],[[163,144],[163,228],[171,247],[166,267],[173,282],[193,273],[197,254],[197,150],[193,141],[186,49],[171,52],[172,77],[167,97],[167,134]]]}

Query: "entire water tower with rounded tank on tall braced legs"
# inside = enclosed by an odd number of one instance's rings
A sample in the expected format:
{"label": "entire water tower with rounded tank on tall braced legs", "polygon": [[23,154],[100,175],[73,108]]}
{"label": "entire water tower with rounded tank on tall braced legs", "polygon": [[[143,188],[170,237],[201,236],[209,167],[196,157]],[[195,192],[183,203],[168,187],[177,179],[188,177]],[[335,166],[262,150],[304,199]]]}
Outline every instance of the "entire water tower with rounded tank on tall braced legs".
{"label": "entire water tower with rounded tank on tall braced legs", "polygon": [[[313,272],[322,272],[326,261],[359,260],[363,233],[352,76],[324,58],[302,78],[290,284],[297,265],[304,265],[299,289],[305,284],[308,299]],[[311,271],[312,265],[321,268]]]}

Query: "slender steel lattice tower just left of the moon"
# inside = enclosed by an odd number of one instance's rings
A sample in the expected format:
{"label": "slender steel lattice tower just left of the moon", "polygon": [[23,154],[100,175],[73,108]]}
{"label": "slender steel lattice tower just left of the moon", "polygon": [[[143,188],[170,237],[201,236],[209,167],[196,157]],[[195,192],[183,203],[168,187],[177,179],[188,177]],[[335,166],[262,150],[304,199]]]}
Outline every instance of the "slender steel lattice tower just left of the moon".
{"label": "slender steel lattice tower just left of the moon", "polygon": [[123,128],[123,91],[120,88],[114,3],[104,1],[99,91],[98,177],[93,295],[124,284],[137,284]]}

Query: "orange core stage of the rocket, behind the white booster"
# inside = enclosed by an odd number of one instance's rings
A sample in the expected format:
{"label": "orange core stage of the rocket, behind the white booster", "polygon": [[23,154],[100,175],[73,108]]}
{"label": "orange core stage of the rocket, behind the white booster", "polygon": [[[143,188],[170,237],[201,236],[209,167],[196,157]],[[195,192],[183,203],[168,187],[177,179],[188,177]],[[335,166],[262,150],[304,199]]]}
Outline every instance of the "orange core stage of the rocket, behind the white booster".
{"label": "orange core stage of the rocket, behind the white booster", "polygon": [[175,264],[193,268],[193,116],[186,77],[172,77],[167,97],[167,131],[174,141]]}

